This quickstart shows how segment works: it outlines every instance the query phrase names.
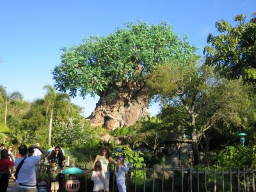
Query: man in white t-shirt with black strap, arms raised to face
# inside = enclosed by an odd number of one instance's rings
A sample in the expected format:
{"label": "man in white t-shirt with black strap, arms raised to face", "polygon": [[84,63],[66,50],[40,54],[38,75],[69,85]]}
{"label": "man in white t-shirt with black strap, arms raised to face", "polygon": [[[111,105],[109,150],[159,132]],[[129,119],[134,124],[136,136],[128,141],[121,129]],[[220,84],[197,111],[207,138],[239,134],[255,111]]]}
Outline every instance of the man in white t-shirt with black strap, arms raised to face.
{"label": "man in white t-shirt with black strap, arms raised to face", "polygon": [[[20,161],[22,159],[25,159],[24,163],[20,167],[18,178],[16,179],[17,182],[17,192],[37,192],[36,188],[36,170],[35,166],[39,163],[40,160],[47,157],[47,152],[40,147],[37,146],[31,146],[32,148],[38,148],[42,154],[40,156],[28,156],[28,147],[26,145],[20,145],[19,147],[19,154],[21,155],[20,158],[18,158],[15,161],[15,167],[19,166]],[[30,148],[31,148],[30,147]]]}

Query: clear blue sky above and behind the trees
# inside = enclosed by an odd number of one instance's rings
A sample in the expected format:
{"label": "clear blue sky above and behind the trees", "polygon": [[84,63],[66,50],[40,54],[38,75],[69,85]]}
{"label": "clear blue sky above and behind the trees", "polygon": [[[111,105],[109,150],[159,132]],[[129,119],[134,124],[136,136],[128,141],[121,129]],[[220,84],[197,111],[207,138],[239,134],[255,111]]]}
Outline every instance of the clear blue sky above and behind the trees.
{"label": "clear blue sky above and behind the trees", "polygon": [[[43,86],[54,84],[52,70],[60,63],[61,47],[80,44],[90,35],[106,36],[128,21],[171,24],[202,55],[208,33],[216,33],[220,19],[256,12],[255,0],[38,0],[0,1],[0,84],[8,93],[19,91],[25,100],[45,95]],[[72,99],[88,116],[99,98]],[[156,115],[157,104],[148,112]]]}

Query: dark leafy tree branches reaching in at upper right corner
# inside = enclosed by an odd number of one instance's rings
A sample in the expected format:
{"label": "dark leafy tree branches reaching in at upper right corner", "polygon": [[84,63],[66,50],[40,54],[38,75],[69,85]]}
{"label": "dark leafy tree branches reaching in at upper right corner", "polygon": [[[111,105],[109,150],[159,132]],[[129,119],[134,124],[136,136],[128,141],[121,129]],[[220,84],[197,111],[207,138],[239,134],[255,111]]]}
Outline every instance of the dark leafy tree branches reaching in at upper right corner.
{"label": "dark leafy tree branches reaching in at upper right corner", "polygon": [[256,83],[256,13],[246,22],[246,15],[234,17],[232,26],[226,20],[216,22],[219,35],[209,34],[204,54],[205,62],[228,79],[243,77],[246,83]]}

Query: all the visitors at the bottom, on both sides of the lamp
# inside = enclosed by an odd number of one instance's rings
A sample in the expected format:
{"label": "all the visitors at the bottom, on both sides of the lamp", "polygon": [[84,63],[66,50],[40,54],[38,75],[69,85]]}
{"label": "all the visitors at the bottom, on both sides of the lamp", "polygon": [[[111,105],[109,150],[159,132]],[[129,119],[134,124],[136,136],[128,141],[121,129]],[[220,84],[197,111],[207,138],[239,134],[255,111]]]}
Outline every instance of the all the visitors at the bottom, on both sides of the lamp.
{"label": "all the visitors at the bottom, on both sides of the lamp", "polygon": [[[17,191],[37,192],[38,185],[35,167],[45,157],[47,157],[49,163],[51,191],[59,191],[60,174],[63,170],[63,161],[65,160],[65,155],[60,145],[57,145],[50,151],[48,150],[48,152],[40,147],[40,143],[30,145],[29,147],[20,145],[18,151],[19,154],[17,155],[17,159],[15,159],[12,146],[6,148],[4,144],[0,144],[0,192],[7,190],[10,178],[16,181]],[[129,171],[129,164],[127,166],[124,157],[119,157],[116,161],[110,157],[108,147],[103,147],[100,150],[99,155],[95,157],[92,167],[88,170],[92,171],[91,179],[94,182],[93,191],[109,192],[109,163],[116,165],[115,174],[118,191],[126,191],[125,172]]]}

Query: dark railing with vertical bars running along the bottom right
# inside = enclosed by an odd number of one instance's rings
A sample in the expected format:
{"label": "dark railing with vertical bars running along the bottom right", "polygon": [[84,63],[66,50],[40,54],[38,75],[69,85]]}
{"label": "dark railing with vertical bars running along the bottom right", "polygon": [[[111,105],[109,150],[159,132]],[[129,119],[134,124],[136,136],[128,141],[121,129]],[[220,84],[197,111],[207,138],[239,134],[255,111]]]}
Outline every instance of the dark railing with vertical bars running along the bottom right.
{"label": "dark railing with vertical bars running along the bottom right", "polygon": [[[39,168],[41,166],[41,168]],[[38,165],[38,172],[45,172],[45,165]],[[86,171],[85,169],[82,169]],[[129,191],[255,191],[255,172],[248,168],[239,170],[205,171],[193,168],[131,168],[126,174]],[[110,170],[109,189],[118,191],[114,171]],[[81,182],[79,191],[92,191],[91,173],[77,175]]]}

